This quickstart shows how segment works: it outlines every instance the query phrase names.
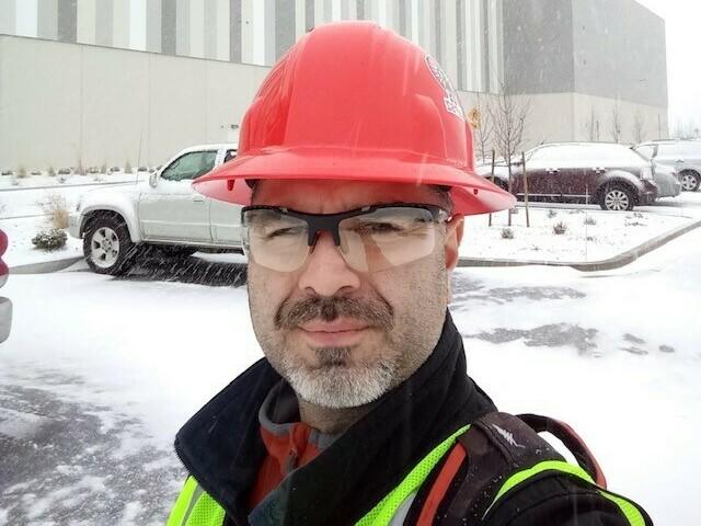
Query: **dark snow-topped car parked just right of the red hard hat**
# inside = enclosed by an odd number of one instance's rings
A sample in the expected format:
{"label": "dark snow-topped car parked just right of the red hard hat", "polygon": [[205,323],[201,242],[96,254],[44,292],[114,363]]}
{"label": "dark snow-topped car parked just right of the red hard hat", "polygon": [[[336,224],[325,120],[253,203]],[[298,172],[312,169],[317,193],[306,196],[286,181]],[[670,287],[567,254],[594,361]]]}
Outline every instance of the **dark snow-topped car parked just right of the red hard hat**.
{"label": "dark snow-topped car parked just right of the red hard hat", "polygon": [[[478,173],[490,176],[489,165]],[[631,210],[653,203],[658,188],[652,164],[623,145],[558,142],[526,153],[528,195],[533,201],[597,203],[605,210]],[[512,192],[525,195],[524,167],[512,161]],[[508,188],[508,167],[495,167],[495,183]]]}

